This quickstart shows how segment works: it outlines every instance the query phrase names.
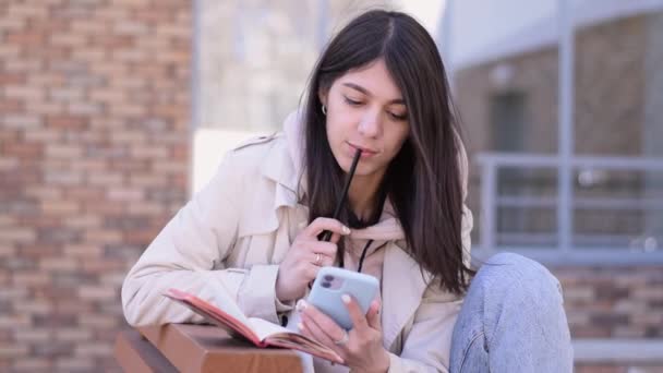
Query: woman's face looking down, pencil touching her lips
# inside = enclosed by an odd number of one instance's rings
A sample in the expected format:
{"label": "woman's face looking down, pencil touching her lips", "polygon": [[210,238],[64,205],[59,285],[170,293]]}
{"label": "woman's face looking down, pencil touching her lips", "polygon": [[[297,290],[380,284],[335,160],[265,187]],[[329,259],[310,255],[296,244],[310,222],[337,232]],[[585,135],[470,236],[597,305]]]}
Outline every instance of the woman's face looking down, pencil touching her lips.
{"label": "woman's face looking down, pencil touching her lips", "polygon": [[408,137],[410,125],[400,89],[383,59],[337,79],[321,101],[327,107],[327,139],[348,172],[358,148],[357,176],[382,178]]}

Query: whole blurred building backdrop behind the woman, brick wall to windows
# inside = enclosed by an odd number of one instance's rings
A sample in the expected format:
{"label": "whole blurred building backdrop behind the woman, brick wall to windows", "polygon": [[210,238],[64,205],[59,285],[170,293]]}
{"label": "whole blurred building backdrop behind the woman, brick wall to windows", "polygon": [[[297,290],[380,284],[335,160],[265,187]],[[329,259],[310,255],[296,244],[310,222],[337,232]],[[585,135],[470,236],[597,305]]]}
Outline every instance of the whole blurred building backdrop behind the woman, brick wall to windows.
{"label": "whole blurred building backdrop behind the woman, brick wall to windows", "polygon": [[564,286],[577,372],[663,372],[663,1],[0,1],[0,371],[116,371],[124,274],[375,7],[436,39],[473,254]]}

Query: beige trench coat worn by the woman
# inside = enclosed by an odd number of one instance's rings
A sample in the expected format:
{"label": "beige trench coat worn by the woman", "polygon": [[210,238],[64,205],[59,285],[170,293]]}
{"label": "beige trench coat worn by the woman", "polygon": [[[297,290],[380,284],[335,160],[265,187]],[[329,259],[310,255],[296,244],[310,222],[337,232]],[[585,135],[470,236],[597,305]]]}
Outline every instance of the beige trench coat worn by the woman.
{"label": "beige trench coat worn by the woman", "polygon": [[[298,204],[298,177],[286,146],[285,136],[277,134],[230,152],[209,184],[168,222],[122,286],[131,325],[202,322],[162,297],[171,287],[213,303],[219,292],[231,294],[249,317],[274,323],[292,310],[276,299],[276,276],[308,224],[308,208]],[[465,151],[461,156],[467,182]],[[471,228],[472,215],[463,207],[468,252]],[[389,372],[446,372],[462,300],[429,286],[430,276],[422,276],[398,242],[385,250],[382,325]]]}

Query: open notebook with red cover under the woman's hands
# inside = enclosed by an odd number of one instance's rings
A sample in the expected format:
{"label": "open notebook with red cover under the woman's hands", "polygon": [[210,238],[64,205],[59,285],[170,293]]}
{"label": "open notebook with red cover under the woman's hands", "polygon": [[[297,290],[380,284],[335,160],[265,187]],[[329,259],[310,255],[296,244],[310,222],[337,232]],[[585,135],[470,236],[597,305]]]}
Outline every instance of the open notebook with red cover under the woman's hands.
{"label": "open notebook with red cover under the woman's hands", "polygon": [[169,289],[164,296],[188,306],[209,323],[226,329],[231,336],[246,339],[257,347],[290,348],[333,362],[342,362],[338,353],[316,340],[263,318],[246,317],[230,299],[221,310],[193,294],[177,289]]}

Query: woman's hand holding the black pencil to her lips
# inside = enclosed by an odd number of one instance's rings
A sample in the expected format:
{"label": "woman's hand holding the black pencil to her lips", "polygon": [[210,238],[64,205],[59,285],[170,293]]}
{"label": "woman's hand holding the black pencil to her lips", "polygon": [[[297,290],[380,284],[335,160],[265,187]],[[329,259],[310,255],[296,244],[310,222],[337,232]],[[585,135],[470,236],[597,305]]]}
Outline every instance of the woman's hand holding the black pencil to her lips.
{"label": "woman's hand holding the black pencil to her lips", "polygon": [[[325,230],[332,232],[329,242],[317,240],[317,236]],[[276,297],[281,302],[302,298],[306,292],[306,286],[315,279],[320,267],[334,264],[336,243],[346,234],[350,234],[348,227],[338,220],[324,217],[316,218],[304,228],[279,265]]]}

